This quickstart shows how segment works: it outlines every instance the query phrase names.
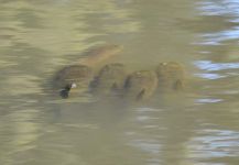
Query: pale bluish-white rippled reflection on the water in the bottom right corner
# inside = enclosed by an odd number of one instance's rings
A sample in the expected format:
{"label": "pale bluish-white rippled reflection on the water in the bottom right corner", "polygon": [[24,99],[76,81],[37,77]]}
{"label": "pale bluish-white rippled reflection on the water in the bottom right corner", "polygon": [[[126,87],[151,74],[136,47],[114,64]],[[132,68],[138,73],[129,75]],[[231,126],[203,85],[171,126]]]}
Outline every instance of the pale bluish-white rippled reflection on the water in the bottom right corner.
{"label": "pale bluish-white rippled reflection on the water in the bottom right corner", "polygon": [[229,130],[203,130],[192,140],[192,156],[202,158],[238,156],[239,133]]}

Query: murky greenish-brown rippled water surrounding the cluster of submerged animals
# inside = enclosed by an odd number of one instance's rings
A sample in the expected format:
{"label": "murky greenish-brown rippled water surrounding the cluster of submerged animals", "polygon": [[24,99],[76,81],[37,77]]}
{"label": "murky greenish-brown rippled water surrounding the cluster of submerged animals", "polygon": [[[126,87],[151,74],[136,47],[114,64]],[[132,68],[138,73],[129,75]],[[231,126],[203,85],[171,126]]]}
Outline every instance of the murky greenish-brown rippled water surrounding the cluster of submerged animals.
{"label": "murky greenish-brown rippled water surrounding the cluster of submerged animals", "polygon": [[[238,164],[237,0],[0,2],[1,165]],[[106,43],[131,70],[182,63],[191,88],[139,105],[50,95],[56,70]]]}

